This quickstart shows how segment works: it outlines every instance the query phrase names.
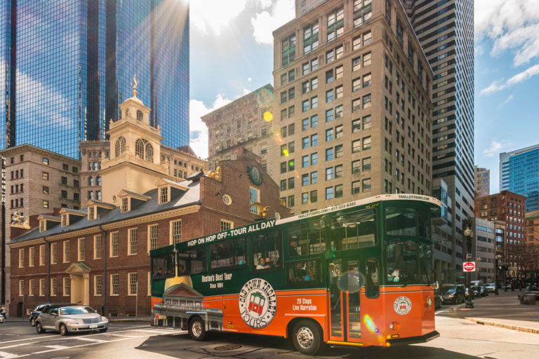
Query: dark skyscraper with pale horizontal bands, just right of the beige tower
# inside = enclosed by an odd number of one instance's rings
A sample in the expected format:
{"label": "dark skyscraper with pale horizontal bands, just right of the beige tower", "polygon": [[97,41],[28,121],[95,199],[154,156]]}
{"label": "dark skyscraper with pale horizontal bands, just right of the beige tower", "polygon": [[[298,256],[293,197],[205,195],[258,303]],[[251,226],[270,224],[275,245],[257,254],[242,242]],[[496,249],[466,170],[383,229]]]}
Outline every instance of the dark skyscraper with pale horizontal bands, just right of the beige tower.
{"label": "dark skyscraper with pale horizontal bands, just right of the beige tower", "polygon": [[474,216],[474,2],[401,1],[434,72],[432,177],[444,179],[453,198],[451,251],[460,271],[462,221]]}

